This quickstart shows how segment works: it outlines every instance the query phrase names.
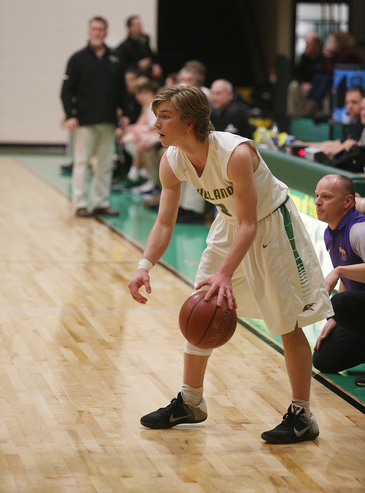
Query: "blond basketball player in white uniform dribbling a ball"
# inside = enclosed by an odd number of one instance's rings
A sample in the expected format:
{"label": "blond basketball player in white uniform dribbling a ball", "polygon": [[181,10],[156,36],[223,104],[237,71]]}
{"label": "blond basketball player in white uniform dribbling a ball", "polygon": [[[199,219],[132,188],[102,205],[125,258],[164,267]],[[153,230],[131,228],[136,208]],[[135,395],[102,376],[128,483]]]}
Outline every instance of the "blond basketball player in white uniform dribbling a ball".
{"label": "blond basketball player in white uniform dribbling a ball", "polygon": [[[201,256],[195,290],[211,286],[240,317],[262,318],[283,341],[293,401],[282,423],[262,434],[270,443],[313,440],[319,434],[309,408],[312,358],[300,327],[332,317],[322,271],[288,187],[271,175],[253,141],[214,132],[207,97],[195,87],[170,87],[154,100],[155,127],[169,146],[160,165],[159,214],[137,273],[129,283],[151,292],[148,272],[162,257],[175,224],[181,182],[193,185],[219,214]],[[149,428],[200,423],[207,418],[203,379],[211,350],[185,343],[182,390],[165,408],[141,418]]]}

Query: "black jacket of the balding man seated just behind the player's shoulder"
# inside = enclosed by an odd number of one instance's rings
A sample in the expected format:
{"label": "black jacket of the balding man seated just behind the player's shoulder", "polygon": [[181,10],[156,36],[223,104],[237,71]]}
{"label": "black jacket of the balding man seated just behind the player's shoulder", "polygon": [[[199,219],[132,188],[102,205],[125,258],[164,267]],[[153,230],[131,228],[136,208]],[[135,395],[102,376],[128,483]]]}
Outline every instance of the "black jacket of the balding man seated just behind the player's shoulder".
{"label": "black jacket of the balding man seated just behind the player's shoulder", "polygon": [[247,108],[239,99],[233,99],[224,109],[213,109],[210,119],[215,130],[251,139],[255,127],[247,121]]}

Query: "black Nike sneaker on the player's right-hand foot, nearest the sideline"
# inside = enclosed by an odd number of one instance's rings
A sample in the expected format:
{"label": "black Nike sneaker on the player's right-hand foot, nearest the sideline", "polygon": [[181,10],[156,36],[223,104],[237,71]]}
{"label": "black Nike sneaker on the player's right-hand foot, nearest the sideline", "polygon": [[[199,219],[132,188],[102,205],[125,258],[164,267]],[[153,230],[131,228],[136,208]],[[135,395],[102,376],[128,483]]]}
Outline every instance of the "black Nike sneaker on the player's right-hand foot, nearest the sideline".
{"label": "black Nike sneaker on the player's right-hand foot, nearest the sideline", "polygon": [[267,443],[296,443],[314,440],[319,435],[319,428],[314,414],[305,413],[304,408],[291,404],[283,421],[272,430],[262,433],[261,438]]}

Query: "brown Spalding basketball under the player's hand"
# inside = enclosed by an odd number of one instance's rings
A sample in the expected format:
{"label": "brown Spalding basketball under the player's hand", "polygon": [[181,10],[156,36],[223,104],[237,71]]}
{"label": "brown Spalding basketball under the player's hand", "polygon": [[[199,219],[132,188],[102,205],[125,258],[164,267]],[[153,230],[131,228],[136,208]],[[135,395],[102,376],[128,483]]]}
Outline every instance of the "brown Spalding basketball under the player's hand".
{"label": "brown Spalding basketball under the player's hand", "polygon": [[218,293],[205,301],[206,291],[198,291],[188,298],[180,310],[180,330],[193,346],[213,349],[229,341],[237,325],[236,311],[228,308],[226,298],[217,307]]}

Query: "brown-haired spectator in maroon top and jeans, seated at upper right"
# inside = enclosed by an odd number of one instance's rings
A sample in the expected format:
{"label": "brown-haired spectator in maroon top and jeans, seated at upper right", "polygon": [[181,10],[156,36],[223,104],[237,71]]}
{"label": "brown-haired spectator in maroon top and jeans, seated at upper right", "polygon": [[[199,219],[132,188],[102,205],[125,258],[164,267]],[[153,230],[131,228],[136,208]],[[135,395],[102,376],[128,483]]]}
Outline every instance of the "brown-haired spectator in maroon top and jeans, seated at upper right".
{"label": "brown-haired spectator in maroon top and jeans, seated at upper right", "polygon": [[355,50],[355,39],[348,33],[336,31],[323,46],[321,70],[313,75],[311,88],[303,108],[292,116],[314,116],[321,102],[332,88],[333,70],[337,64],[361,64],[363,59]]}

